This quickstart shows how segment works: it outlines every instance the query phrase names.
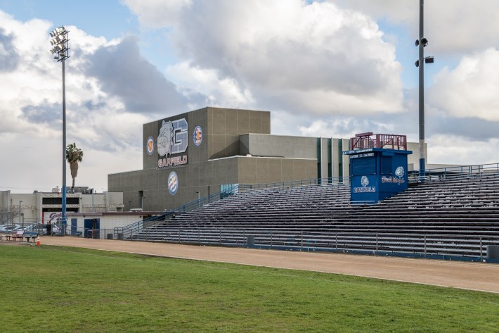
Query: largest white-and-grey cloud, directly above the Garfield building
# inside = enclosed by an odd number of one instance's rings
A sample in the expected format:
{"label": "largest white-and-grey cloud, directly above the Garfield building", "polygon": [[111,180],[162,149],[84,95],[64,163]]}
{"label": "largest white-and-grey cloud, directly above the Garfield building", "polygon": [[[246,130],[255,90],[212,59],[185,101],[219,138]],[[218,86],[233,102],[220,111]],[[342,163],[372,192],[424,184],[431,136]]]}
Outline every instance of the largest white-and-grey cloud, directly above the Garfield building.
{"label": "largest white-and-grey cloud, directly above the Garfield building", "polygon": [[[151,4],[141,15],[168,6]],[[230,89],[211,89],[216,103],[253,107],[258,101],[259,108],[292,113],[403,111],[394,46],[361,13],[299,0],[193,1],[182,8],[170,33],[188,59],[182,73],[226,82]]]}

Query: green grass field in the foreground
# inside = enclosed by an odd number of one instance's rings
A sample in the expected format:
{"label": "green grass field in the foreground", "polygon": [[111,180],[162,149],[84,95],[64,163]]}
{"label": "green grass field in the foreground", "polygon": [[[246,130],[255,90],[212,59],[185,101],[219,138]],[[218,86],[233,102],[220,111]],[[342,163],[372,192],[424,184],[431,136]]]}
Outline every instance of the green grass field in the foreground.
{"label": "green grass field in the foreground", "polygon": [[0,246],[2,332],[499,332],[499,295],[60,246]]}

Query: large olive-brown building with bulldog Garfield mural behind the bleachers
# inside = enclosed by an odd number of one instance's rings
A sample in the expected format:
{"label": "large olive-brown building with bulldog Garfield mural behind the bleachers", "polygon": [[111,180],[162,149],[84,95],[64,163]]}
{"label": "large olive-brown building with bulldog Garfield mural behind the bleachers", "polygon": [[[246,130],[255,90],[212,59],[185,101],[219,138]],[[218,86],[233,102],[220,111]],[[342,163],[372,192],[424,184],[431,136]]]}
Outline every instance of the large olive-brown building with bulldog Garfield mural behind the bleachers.
{"label": "large olive-brown building with bulldog Garfield mural behind the bleachers", "polygon": [[[271,134],[271,113],[202,108],[143,125],[143,168],[108,175],[124,211],[164,211],[231,187],[349,177],[349,139]],[[418,165],[408,143],[409,170]]]}

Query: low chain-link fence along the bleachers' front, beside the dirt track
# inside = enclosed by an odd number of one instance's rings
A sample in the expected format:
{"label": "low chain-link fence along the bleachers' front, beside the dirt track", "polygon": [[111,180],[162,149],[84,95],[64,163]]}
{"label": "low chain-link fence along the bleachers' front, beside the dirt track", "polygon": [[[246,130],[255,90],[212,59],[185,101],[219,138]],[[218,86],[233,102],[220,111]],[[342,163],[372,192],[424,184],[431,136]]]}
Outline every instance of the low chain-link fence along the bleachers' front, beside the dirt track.
{"label": "low chain-link fence along the bleachers' front, beside the dirt track", "polygon": [[[248,237],[252,239],[249,244]],[[482,261],[487,246],[499,246],[498,236],[455,234],[414,234],[387,232],[325,232],[313,230],[227,230],[192,228],[161,230],[144,234],[141,240],[174,244],[197,244],[284,249],[295,251],[330,251],[372,255],[410,256],[417,258],[462,258]]]}

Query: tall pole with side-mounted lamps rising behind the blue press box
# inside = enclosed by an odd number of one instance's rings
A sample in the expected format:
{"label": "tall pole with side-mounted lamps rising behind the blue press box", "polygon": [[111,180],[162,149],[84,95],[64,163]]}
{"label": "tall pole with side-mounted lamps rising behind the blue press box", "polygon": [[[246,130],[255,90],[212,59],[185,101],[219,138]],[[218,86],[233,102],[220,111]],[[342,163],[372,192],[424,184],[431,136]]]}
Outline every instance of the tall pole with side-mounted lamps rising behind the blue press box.
{"label": "tall pole with side-mounted lamps rising behind the blue press box", "polygon": [[[419,83],[420,83],[420,98],[419,98],[419,113],[420,113],[420,181],[425,180],[425,63],[433,63],[434,57],[429,56],[425,58],[425,46],[428,45],[428,39],[423,37],[424,27],[424,0],[420,0],[420,36],[416,40],[416,46],[419,49],[419,56],[415,65],[419,68]],[[424,59],[424,61],[423,61]]]}

